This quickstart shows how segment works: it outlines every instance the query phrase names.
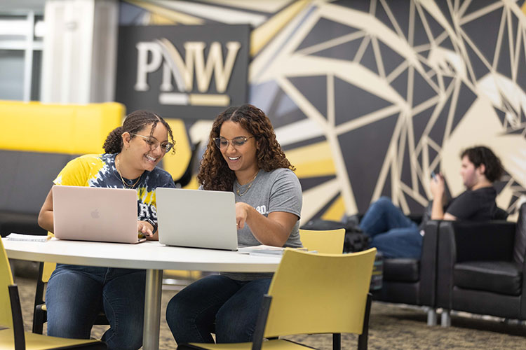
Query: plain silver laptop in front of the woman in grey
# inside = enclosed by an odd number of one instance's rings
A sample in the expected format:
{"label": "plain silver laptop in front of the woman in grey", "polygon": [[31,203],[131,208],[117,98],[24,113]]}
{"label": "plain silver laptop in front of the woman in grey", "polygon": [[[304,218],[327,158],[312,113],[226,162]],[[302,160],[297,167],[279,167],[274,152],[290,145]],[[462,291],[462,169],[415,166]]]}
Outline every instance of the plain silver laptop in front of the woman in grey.
{"label": "plain silver laptop in front of the woman in grey", "polygon": [[234,193],[157,188],[155,196],[161,244],[237,250]]}

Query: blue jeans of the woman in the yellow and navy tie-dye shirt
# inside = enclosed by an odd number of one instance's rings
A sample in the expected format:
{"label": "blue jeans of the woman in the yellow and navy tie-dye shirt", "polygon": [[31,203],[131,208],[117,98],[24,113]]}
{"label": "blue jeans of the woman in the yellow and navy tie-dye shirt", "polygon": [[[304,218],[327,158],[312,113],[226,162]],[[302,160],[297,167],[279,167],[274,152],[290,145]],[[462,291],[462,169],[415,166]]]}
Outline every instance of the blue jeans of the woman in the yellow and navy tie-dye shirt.
{"label": "blue jeans of the woman in the yellow and navy tie-dye shirt", "polygon": [[144,283],[142,269],[112,269],[58,264],[46,289],[48,335],[89,339],[100,311],[110,328],[108,349],[142,346]]}

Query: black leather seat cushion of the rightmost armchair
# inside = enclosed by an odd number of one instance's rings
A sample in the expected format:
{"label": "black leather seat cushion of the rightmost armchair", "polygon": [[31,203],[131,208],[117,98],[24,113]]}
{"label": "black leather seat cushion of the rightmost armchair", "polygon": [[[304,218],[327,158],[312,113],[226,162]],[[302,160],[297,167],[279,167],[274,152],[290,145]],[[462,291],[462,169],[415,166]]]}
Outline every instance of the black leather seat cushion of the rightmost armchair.
{"label": "black leather seat cushion of the rightmost armchair", "polygon": [[511,261],[461,262],[453,267],[454,285],[465,289],[520,295],[522,272]]}

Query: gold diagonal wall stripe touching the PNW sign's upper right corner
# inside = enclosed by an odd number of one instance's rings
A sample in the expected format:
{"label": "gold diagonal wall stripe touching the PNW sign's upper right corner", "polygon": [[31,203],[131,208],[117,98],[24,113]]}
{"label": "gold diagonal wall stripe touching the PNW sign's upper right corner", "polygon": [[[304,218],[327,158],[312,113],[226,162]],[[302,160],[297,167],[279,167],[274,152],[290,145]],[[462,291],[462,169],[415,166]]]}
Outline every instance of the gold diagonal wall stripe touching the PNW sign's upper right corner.
{"label": "gold diagonal wall stripe touching the PNW sign's upper right corner", "polygon": [[264,22],[250,34],[250,56],[254,57],[264,48],[267,43],[276,36],[278,31],[295,18],[299,11],[303,10],[311,1],[299,0],[292,3],[287,8],[276,13],[270,20]]}

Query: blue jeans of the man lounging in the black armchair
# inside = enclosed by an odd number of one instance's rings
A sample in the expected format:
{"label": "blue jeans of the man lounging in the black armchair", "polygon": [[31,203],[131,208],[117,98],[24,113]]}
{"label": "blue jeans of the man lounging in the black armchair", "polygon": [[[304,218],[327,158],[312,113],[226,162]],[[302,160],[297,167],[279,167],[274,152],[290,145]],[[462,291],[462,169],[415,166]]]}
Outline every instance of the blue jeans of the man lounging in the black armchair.
{"label": "blue jeans of the man lounging in the black armchair", "polygon": [[422,235],[417,224],[395,207],[388,197],[372,203],[360,222],[360,229],[372,238],[385,258],[416,258],[422,253]]}

